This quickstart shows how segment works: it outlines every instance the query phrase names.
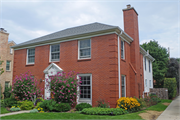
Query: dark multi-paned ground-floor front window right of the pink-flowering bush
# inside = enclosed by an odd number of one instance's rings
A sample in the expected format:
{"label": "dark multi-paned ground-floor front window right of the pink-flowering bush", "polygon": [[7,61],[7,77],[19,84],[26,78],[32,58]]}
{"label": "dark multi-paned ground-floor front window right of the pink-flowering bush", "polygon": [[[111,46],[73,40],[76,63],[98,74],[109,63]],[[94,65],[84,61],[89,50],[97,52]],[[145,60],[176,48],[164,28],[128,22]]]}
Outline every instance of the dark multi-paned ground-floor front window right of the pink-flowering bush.
{"label": "dark multi-paned ground-floor front window right of the pink-flowering bush", "polygon": [[80,99],[91,99],[91,75],[79,75],[81,77]]}

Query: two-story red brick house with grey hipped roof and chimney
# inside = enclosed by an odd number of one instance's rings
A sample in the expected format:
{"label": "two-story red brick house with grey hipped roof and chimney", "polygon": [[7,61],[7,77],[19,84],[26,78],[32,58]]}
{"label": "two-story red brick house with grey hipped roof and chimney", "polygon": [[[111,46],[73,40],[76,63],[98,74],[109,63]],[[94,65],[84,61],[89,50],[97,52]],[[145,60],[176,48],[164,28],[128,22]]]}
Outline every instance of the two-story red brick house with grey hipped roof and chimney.
{"label": "two-story red brick house with grey hipped roof and chimney", "polygon": [[77,102],[93,106],[98,99],[110,101],[115,107],[120,97],[142,96],[145,54],[140,52],[138,14],[130,5],[123,13],[124,31],[118,26],[92,23],[14,46],[13,78],[31,71],[39,79],[39,87],[44,88],[46,99],[50,91],[45,89],[45,79],[75,70],[83,82]]}

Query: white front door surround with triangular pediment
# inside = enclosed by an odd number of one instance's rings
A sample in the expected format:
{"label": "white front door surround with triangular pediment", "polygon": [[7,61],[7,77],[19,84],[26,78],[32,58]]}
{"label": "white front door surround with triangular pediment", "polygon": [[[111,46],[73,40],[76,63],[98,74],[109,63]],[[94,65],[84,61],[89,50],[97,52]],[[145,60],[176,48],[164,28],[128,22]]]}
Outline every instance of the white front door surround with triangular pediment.
{"label": "white front door surround with triangular pediment", "polygon": [[50,86],[49,89],[47,88],[48,81],[50,81],[49,76],[56,75],[58,72],[62,72],[63,69],[61,69],[58,65],[55,63],[51,63],[43,72],[45,74],[45,86],[44,86],[44,99],[49,99],[51,98],[51,91],[50,91]]}

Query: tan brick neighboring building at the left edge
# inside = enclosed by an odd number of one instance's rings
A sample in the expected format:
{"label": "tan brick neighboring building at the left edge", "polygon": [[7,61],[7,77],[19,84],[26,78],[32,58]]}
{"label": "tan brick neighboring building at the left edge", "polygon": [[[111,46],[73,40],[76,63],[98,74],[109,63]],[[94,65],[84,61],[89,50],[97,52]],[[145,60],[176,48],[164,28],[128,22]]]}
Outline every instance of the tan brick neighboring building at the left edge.
{"label": "tan brick neighboring building at the left edge", "polygon": [[5,87],[12,85],[13,78],[13,58],[14,50],[11,46],[16,43],[14,41],[8,41],[9,33],[3,28],[0,28],[0,60],[4,61],[0,68],[3,68],[4,73],[0,75],[0,83],[2,86],[2,93]]}

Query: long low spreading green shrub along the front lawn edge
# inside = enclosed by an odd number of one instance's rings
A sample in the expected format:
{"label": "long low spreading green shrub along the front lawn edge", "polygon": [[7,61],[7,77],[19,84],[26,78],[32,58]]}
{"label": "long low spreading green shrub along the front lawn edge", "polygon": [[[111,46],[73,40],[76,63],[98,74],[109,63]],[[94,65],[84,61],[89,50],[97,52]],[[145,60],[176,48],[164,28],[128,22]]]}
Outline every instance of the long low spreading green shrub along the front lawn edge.
{"label": "long low spreading green shrub along the front lawn edge", "polygon": [[84,108],[81,113],[87,115],[122,115],[122,114],[126,114],[127,111],[123,110],[122,108],[93,107],[93,108]]}

